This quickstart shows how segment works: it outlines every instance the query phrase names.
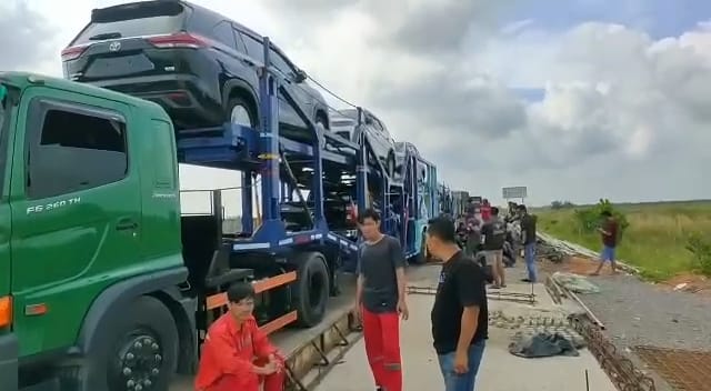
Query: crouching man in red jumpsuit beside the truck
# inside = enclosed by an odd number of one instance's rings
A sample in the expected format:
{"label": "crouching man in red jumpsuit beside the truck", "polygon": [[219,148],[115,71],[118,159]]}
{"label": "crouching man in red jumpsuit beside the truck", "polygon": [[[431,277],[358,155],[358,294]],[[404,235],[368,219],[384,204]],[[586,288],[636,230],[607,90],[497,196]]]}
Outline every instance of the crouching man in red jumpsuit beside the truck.
{"label": "crouching man in red jumpsuit beside the truck", "polygon": [[259,329],[252,311],[254,288],[239,282],[227,292],[229,311],[208,330],[196,390],[282,391],[283,357]]}

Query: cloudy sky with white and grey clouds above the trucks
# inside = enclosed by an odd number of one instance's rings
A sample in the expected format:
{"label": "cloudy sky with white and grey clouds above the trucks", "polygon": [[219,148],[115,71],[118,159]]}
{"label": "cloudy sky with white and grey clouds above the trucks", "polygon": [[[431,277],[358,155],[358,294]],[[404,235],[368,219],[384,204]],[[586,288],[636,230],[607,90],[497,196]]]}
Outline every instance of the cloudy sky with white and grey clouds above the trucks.
{"label": "cloudy sky with white and grey clouds above the trucks", "polygon": [[[91,9],[119,2],[4,0],[0,69],[60,76]],[[711,2],[194,2],[271,37],[454,188],[500,201],[525,186],[533,204],[711,198]],[[238,184],[183,173],[184,188]]]}

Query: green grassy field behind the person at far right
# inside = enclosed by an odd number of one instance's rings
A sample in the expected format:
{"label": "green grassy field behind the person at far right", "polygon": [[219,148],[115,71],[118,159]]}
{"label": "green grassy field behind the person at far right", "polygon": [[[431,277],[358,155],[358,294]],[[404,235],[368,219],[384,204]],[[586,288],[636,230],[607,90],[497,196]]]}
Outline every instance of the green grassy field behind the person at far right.
{"label": "green grassy field behind the person at far right", "polygon": [[[599,250],[600,234],[582,229],[575,217],[575,209],[593,207],[537,210],[539,230]],[[700,262],[708,262],[708,254],[691,251],[704,249],[704,244],[690,247],[690,242],[693,238],[711,240],[711,201],[615,204],[614,209],[629,223],[618,258],[640,268],[644,277],[664,280],[678,273],[705,271],[707,263]]]}

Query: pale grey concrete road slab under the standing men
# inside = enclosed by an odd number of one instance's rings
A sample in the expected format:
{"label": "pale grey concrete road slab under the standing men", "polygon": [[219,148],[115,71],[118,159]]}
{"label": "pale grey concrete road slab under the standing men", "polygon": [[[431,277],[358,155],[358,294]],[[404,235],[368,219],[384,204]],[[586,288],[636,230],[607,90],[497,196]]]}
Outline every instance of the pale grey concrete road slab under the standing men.
{"label": "pale grey concrete road slab under the standing men", "polygon": [[[518,271],[509,269],[510,281],[517,281]],[[433,284],[438,267],[420,268],[415,278],[418,284]],[[504,291],[530,292],[530,284],[509,283]],[[554,304],[542,284],[534,285],[539,302],[534,305],[495,300],[490,294],[490,312],[502,311],[505,317],[553,317],[562,319],[565,311]],[[430,332],[430,309],[433,297],[411,294],[409,297],[410,320],[403,322],[401,345],[404,371],[404,390],[442,390],[442,375],[432,349]],[[615,391],[614,385],[602,371],[592,354],[583,349],[580,357],[554,357],[523,359],[508,351],[514,330],[489,327],[489,340],[477,390],[485,391],[585,391],[585,370],[590,379],[590,390]],[[343,362],[333,368],[314,391],[362,391],[374,390],[372,375],[365,359],[363,341],[359,341],[346,355]]]}

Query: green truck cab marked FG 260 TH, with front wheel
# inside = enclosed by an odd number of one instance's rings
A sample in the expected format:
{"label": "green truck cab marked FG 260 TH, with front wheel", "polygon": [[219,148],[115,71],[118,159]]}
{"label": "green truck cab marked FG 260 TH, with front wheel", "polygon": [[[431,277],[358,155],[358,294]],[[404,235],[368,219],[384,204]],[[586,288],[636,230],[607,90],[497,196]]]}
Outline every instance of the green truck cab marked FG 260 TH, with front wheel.
{"label": "green truck cab marked FG 260 TH, with front wheel", "polygon": [[0,84],[0,390],[166,390],[198,344],[170,118],[61,79]]}

